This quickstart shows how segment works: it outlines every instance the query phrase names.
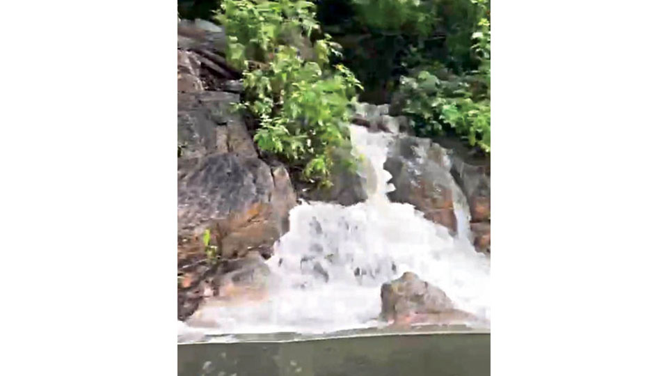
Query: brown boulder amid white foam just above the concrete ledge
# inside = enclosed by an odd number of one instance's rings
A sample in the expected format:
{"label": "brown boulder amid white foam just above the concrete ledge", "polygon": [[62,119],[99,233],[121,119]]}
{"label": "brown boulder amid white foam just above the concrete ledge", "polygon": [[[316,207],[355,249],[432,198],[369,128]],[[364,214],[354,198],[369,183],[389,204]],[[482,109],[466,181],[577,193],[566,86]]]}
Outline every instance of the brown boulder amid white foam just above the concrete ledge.
{"label": "brown boulder amid white foam just above the concrete ledge", "polygon": [[443,290],[406,272],[381,287],[381,319],[395,324],[460,324],[475,315],[454,308]]}

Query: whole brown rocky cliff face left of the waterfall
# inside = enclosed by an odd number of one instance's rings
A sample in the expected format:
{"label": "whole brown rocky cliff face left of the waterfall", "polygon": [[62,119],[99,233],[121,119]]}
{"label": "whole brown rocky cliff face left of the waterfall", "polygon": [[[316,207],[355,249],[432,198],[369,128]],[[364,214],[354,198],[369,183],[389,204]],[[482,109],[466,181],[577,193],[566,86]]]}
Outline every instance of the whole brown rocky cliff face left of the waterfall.
{"label": "whole brown rocky cliff face left of the waterfall", "polygon": [[249,252],[271,256],[296,195],[285,166],[258,157],[244,118],[232,110],[241,84],[217,54],[223,31],[184,22],[179,33],[178,316],[184,320],[219,293],[212,281],[232,272],[228,263]]}

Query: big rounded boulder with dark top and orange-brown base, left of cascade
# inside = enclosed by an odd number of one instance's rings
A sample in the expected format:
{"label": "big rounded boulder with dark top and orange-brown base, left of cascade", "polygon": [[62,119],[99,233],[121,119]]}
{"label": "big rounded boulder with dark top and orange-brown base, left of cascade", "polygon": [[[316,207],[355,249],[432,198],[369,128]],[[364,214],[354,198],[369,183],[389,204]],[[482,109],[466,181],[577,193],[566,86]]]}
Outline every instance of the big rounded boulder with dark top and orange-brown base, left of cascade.
{"label": "big rounded boulder with dark top and orange-brown base, left of cascade", "polygon": [[234,153],[182,163],[178,177],[178,235],[184,253],[202,251],[202,234],[223,258],[264,254],[287,232],[296,198],[283,166]]}

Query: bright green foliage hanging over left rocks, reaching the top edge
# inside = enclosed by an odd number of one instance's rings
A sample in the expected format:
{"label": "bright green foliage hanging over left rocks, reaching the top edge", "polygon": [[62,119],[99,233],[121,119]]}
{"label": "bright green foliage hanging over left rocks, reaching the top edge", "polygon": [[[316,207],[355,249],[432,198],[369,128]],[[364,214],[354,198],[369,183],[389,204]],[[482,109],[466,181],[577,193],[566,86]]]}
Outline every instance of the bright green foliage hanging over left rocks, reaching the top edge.
{"label": "bright green foliage hanging over left rocks, reaching the top edge", "polygon": [[[343,65],[330,66],[340,46],[320,33],[315,5],[228,0],[223,9],[228,59],[244,68],[241,107],[260,122],[257,146],[301,169],[303,178],[330,184],[333,165],[350,158],[347,123],[362,86]],[[314,31],[321,38],[312,42]],[[339,158],[340,150],[348,152]]]}

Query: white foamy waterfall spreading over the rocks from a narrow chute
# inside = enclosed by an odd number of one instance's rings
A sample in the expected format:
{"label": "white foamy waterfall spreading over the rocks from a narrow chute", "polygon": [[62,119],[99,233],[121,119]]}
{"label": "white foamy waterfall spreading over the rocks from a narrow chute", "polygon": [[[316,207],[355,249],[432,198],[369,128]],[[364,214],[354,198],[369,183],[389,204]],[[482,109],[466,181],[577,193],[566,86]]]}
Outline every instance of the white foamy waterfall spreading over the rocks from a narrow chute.
{"label": "white foamy waterfall spreading over the rocks from a narrow chute", "polygon": [[389,135],[351,126],[351,139],[369,198],[344,207],[303,203],[290,212],[290,230],[267,261],[269,297],[237,306],[204,308],[216,321],[209,333],[323,333],[373,327],[381,285],[404,272],[446,292],[456,306],[486,320],[489,261],[468,240],[468,219],[458,210],[460,235],[424,219],[412,205],[390,203],[391,175],[383,170]]}

